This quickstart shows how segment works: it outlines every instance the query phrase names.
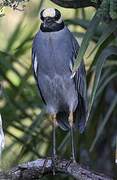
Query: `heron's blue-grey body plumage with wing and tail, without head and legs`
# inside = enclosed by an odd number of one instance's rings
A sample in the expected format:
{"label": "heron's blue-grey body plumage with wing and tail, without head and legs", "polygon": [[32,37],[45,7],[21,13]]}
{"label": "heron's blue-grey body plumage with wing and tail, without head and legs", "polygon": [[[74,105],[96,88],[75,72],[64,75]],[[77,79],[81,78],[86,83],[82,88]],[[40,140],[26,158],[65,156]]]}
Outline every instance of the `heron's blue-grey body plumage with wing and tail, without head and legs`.
{"label": "heron's blue-grey body plumage with wing and tail, without head and legs", "polygon": [[64,130],[69,129],[69,112],[74,112],[74,128],[82,133],[85,128],[87,99],[86,74],[82,62],[75,76],[72,67],[79,45],[65,26],[57,32],[36,34],[33,41],[32,62],[35,79],[50,114]]}

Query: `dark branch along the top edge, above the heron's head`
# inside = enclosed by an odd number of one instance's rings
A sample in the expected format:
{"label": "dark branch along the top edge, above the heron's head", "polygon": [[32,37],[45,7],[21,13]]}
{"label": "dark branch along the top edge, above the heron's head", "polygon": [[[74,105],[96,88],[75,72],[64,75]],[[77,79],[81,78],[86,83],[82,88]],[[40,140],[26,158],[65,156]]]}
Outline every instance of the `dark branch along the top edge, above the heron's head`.
{"label": "dark branch along the top edge, above the heron's head", "polygon": [[[83,8],[83,7],[97,7],[99,4],[91,2],[91,0],[50,0],[55,4],[65,8]],[[100,1],[99,1],[100,2]]]}

